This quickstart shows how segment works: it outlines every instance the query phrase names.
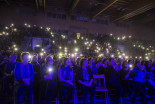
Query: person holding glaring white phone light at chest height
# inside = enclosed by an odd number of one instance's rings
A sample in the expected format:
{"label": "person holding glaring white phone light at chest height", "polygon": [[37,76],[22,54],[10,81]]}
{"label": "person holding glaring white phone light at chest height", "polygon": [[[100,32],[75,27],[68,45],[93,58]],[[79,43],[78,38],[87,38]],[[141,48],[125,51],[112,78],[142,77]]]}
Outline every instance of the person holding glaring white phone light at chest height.
{"label": "person holding glaring white phone light at chest height", "polygon": [[[57,96],[57,66],[53,65],[53,58],[46,57],[45,64],[41,68],[41,103],[46,100],[55,100]],[[49,99],[48,99],[49,98]]]}

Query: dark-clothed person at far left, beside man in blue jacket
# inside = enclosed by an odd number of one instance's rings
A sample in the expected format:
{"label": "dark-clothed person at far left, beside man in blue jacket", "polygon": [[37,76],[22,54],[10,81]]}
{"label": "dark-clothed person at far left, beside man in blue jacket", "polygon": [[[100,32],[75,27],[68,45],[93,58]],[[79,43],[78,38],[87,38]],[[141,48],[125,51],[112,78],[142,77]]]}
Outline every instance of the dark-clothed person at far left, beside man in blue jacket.
{"label": "dark-clothed person at far left, beside man in blue jacket", "polygon": [[[16,55],[11,54],[9,57],[9,62],[4,67],[4,88],[6,95],[13,95],[13,85],[14,85],[14,70],[18,62],[16,62]],[[11,85],[10,85],[11,84]],[[11,88],[12,89],[11,89]]]}

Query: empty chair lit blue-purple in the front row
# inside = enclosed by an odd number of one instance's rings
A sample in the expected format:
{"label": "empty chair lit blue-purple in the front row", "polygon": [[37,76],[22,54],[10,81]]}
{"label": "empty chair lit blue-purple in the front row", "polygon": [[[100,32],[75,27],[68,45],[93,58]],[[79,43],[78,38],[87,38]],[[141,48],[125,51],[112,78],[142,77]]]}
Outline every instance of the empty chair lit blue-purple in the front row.
{"label": "empty chair lit blue-purple in the front row", "polygon": [[[96,92],[105,92],[106,104],[109,104],[108,89],[106,88],[104,74],[102,74],[102,75],[93,75],[93,78],[94,78],[94,80],[96,82],[98,82],[98,84],[96,85]],[[103,85],[102,85],[101,81],[103,81]]]}

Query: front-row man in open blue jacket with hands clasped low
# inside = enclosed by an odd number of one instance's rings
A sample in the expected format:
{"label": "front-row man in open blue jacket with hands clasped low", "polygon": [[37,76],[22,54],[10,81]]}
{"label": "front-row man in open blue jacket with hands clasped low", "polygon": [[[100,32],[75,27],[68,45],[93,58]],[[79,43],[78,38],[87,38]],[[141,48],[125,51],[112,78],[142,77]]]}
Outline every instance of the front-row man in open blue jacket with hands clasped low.
{"label": "front-row man in open blue jacket with hands clasped low", "polygon": [[33,94],[33,78],[34,71],[32,64],[28,63],[29,53],[21,53],[21,63],[18,63],[15,68],[15,78],[19,82],[19,88],[17,91],[17,104],[21,104],[21,99],[24,92],[27,92],[28,101],[27,104],[30,104]]}

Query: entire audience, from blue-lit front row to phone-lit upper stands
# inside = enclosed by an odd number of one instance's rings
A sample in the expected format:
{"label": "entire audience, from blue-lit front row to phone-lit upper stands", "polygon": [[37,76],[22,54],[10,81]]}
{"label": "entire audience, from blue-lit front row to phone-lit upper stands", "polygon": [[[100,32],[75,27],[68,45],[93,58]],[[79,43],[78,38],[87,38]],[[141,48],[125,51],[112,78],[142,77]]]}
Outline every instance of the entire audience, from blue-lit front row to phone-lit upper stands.
{"label": "entire audience, from blue-lit front row to phone-lit upper stands", "polygon": [[[139,95],[144,104],[146,100],[152,100],[155,60],[154,48],[148,42],[142,44],[131,36],[117,38],[112,34],[78,35],[28,24],[24,27],[1,26],[0,31],[0,50],[7,50],[0,51],[0,93],[7,97],[14,95],[17,104],[21,104],[25,92],[28,103],[34,95],[36,104],[56,99],[61,104],[69,104],[79,90],[84,104],[87,104],[89,95],[94,104],[95,89],[99,86],[94,75],[105,76],[107,89],[114,89],[116,104],[124,96],[129,96],[133,104]],[[24,44],[23,41],[29,41],[24,40],[25,36],[42,38],[38,52],[32,49],[31,41]],[[45,38],[49,40],[45,41]],[[126,55],[116,44],[137,48],[139,56]],[[51,45],[49,52],[41,49],[46,45]]]}

